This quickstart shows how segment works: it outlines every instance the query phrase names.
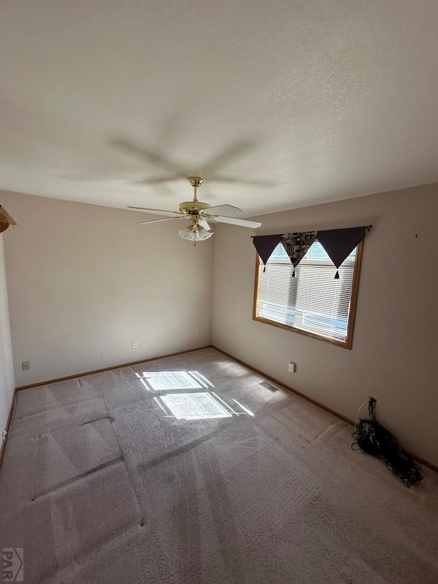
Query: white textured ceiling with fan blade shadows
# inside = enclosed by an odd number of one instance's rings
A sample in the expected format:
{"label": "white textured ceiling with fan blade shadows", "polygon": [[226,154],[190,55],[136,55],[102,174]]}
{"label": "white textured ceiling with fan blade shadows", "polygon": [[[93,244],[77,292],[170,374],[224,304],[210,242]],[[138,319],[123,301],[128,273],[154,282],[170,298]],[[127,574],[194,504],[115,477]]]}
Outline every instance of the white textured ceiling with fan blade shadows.
{"label": "white textured ceiling with fan blade shadows", "polygon": [[437,30],[436,0],[2,0],[0,189],[174,209],[188,182],[135,181],[201,174],[250,216],[438,181]]}

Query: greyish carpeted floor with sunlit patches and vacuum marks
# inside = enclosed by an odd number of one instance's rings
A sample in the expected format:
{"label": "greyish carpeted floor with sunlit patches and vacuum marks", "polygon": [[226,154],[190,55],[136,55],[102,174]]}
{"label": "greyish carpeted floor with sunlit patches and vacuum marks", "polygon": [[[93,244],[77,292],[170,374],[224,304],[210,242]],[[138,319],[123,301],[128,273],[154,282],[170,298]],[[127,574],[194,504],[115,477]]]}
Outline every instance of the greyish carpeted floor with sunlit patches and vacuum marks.
{"label": "greyish carpeted floor with sunlit patches and vacuum marks", "polygon": [[[438,582],[438,476],[214,349],[18,392],[0,547],[25,583]],[[402,437],[400,437],[402,439]]]}

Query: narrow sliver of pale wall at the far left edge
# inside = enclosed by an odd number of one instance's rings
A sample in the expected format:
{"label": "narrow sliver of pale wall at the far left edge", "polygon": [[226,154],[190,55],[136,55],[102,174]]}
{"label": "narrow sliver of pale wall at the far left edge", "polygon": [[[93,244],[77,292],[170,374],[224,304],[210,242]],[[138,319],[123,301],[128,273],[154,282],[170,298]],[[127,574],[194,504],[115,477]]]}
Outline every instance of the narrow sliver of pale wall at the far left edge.
{"label": "narrow sliver of pale wall at the far left edge", "polygon": [[6,427],[15,385],[3,237],[4,233],[0,235],[0,434]]}

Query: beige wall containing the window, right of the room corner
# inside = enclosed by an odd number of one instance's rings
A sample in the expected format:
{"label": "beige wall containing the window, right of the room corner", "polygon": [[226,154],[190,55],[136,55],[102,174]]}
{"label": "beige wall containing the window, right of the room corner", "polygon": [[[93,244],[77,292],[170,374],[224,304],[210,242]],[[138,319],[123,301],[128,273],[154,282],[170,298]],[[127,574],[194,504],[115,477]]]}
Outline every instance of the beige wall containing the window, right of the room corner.
{"label": "beige wall containing the window, right of the room corner", "polygon": [[[363,247],[351,351],[255,322],[250,233],[221,226],[215,235],[214,345],[348,418],[376,396],[381,422],[405,448],[438,464],[437,217],[435,185],[261,219],[260,234],[374,225]],[[289,361],[296,361],[296,373],[287,372]]]}

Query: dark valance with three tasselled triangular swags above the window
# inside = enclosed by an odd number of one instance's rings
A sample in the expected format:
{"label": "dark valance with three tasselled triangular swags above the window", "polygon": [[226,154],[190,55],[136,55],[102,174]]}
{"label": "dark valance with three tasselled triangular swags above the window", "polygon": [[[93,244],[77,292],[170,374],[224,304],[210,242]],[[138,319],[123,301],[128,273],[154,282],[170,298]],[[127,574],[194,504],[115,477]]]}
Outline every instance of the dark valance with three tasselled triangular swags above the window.
{"label": "dark valance with three tasselled triangular swags above the window", "polygon": [[[294,266],[295,276],[296,266],[306,255],[313,242],[318,240],[329,255],[337,270],[346,260],[350,253],[365,237],[365,232],[371,229],[372,225],[363,227],[348,227],[347,229],[326,229],[324,231],[302,231],[298,233],[287,233],[287,235],[254,236],[253,244],[261,261],[266,269],[266,262],[272,255],[276,246],[281,242],[285,252]],[[335,279],[339,279],[339,272],[336,271]]]}

